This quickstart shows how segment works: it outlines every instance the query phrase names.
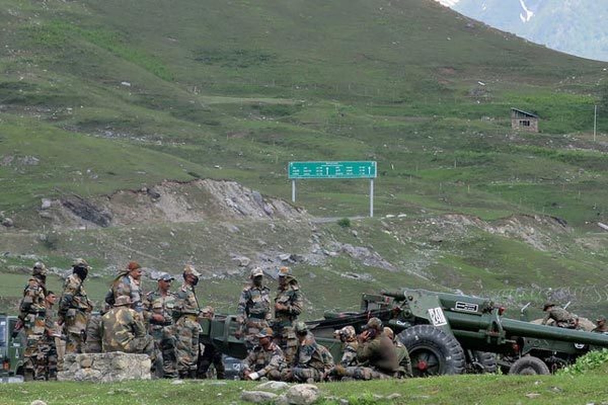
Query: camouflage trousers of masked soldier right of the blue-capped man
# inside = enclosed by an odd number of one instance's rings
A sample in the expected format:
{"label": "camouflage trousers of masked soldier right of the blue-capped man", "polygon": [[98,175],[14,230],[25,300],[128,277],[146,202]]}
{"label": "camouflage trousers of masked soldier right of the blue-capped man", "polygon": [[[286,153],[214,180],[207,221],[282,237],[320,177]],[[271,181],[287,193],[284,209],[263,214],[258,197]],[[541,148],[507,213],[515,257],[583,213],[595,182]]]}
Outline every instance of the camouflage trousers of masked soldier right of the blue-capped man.
{"label": "camouflage trousers of masked soldier right of the blue-capped man", "polygon": [[175,347],[178,357],[178,372],[180,376],[187,376],[188,373],[196,373],[201,325],[196,320],[196,315],[182,315],[175,325],[178,334]]}

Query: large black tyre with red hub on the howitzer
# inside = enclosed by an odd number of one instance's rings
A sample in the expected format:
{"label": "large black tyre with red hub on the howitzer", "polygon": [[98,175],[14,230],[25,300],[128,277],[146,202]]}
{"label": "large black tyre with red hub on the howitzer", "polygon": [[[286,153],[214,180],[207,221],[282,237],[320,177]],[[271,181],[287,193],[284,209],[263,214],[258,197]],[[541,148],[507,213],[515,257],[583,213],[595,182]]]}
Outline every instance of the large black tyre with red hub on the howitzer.
{"label": "large black tyre with red hub on the howitzer", "polygon": [[462,374],[465,352],[452,335],[431,325],[416,325],[398,335],[412,359],[413,376]]}

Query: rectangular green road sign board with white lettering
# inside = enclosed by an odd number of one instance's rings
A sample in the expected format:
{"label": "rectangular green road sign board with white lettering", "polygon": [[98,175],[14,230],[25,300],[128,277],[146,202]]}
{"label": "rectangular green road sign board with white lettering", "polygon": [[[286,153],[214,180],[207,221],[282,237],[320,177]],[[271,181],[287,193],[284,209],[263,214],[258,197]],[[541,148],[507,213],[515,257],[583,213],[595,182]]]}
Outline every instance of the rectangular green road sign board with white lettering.
{"label": "rectangular green road sign board with white lettering", "polygon": [[376,162],[289,162],[289,179],[375,179]]}

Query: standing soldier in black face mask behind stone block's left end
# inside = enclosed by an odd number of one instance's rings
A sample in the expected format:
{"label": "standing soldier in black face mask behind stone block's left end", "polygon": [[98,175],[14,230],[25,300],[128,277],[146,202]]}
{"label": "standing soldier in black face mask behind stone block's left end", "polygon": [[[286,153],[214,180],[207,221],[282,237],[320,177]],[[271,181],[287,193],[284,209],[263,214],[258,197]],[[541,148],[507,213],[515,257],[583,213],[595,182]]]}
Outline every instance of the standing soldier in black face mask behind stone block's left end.
{"label": "standing soldier in black face mask behind stone block's left end", "polygon": [[86,336],[86,324],[93,308],[86,296],[85,282],[89,274],[89,264],[84,259],[76,259],[72,265],[73,272],[63,285],[63,294],[59,302],[59,323],[63,325],[66,335],[66,354],[82,353]]}

